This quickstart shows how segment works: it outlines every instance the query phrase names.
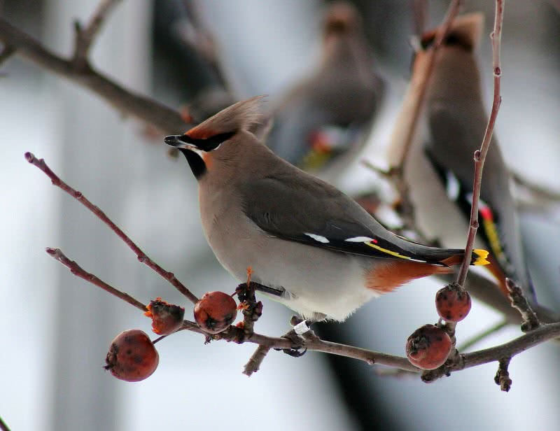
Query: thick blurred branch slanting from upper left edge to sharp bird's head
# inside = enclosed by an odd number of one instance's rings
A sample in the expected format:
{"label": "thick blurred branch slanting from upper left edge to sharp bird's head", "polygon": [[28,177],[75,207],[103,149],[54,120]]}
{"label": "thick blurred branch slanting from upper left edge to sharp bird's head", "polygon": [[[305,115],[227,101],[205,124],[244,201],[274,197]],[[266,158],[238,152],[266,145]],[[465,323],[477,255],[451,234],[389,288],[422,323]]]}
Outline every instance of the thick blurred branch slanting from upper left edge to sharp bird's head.
{"label": "thick blurred branch slanting from upper left edge to sharp bird's head", "polygon": [[76,69],[73,61],[55,55],[39,41],[0,18],[0,41],[15,48],[17,55],[40,67],[92,90],[118,111],[148,122],[164,133],[176,133],[190,127],[178,111],[149,97],[134,94],[91,66]]}

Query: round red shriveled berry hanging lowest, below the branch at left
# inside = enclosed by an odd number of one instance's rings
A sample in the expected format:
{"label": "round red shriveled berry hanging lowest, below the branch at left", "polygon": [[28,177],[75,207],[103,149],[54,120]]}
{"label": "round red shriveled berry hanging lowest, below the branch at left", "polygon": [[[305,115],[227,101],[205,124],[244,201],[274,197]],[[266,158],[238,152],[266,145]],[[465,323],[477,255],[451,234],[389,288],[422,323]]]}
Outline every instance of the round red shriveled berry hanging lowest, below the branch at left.
{"label": "round red shriveled berry hanging lowest, below the branch at left", "polygon": [[141,381],[158,368],[160,355],[146,332],[127,330],[113,339],[105,362],[105,369],[117,379]]}

